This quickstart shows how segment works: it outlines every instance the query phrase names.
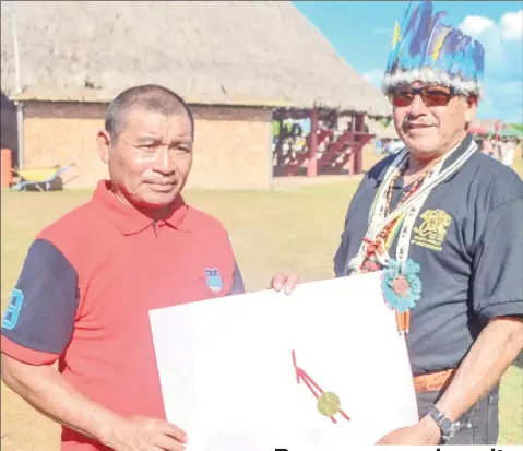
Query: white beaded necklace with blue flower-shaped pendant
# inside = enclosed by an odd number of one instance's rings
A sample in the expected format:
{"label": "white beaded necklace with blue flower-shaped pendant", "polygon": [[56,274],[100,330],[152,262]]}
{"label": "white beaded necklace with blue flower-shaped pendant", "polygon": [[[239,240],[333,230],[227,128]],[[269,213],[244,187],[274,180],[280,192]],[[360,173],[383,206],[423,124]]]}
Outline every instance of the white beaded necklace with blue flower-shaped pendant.
{"label": "white beaded necklace with blue flower-shaped pendant", "polygon": [[[404,193],[397,206],[391,211],[394,181],[405,174],[409,158],[407,149],[400,152],[391,166],[384,169],[383,182],[378,188],[370,209],[367,233],[358,253],[348,263],[352,273],[365,273],[384,268],[383,296],[388,306],[395,310],[400,333],[408,332],[411,309],[416,306],[421,295],[421,281],[417,275],[420,266],[408,258],[411,235],[416,217],[430,192],[460,170],[476,152],[477,145],[472,141],[462,155],[442,169],[445,161],[456,149],[447,153],[426,176],[416,180]],[[400,228],[401,235],[394,259],[389,256],[388,249]]]}

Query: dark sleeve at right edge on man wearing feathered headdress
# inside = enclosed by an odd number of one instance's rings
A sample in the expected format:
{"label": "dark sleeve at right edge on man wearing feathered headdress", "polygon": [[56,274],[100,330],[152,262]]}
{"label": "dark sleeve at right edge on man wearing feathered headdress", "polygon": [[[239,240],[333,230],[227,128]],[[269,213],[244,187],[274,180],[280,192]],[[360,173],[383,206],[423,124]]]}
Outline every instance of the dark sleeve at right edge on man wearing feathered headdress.
{"label": "dark sleeve at right edge on man wearing feathered headdress", "polygon": [[488,213],[474,252],[472,294],[482,323],[523,314],[523,199]]}

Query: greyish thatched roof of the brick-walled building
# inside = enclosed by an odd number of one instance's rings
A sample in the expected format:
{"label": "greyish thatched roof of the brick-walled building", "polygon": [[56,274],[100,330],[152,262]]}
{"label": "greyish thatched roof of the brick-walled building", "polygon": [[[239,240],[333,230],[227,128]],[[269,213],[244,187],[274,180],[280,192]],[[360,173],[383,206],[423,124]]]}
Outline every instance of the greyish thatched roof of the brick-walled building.
{"label": "greyish thatched roof of the brick-walled building", "polygon": [[2,1],[1,84],[11,96],[13,3],[25,98],[108,102],[158,83],[191,103],[390,115],[384,96],[280,1]]}

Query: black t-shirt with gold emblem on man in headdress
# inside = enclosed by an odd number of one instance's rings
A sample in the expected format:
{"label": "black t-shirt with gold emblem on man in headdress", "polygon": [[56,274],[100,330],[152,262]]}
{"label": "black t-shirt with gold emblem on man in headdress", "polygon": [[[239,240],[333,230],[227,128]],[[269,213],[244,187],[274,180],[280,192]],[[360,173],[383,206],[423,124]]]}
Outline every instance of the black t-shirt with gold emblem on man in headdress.
{"label": "black t-shirt with gold emblem on man in headdress", "polygon": [[[443,168],[463,154],[467,137]],[[367,232],[381,161],[350,202],[334,258],[336,276],[348,274]],[[392,204],[409,187],[397,179]],[[421,298],[411,312],[406,343],[415,375],[455,368],[489,320],[523,314],[523,182],[501,163],[475,153],[425,201],[414,224],[408,257],[419,263]],[[416,229],[417,228],[417,229]],[[389,249],[395,256],[397,236]]]}

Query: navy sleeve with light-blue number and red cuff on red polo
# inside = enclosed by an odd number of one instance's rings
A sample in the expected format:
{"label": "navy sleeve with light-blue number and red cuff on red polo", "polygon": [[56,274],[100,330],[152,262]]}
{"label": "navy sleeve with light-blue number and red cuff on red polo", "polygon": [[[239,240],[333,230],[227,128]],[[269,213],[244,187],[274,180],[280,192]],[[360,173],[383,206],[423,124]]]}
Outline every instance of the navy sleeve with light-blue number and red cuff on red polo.
{"label": "navy sleeve with light-blue number and red cuff on red polo", "polygon": [[68,346],[79,304],[76,271],[50,241],[31,246],[2,321],[2,353],[52,364]]}

